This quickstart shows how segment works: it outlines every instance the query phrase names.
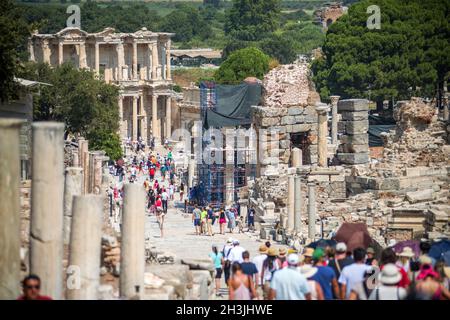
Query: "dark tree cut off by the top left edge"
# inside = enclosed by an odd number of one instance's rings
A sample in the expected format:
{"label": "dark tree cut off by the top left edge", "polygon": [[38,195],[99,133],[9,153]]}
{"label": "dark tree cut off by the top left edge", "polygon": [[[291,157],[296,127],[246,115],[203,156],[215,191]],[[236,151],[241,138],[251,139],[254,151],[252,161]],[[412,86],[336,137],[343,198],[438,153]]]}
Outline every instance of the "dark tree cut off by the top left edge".
{"label": "dark tree cut off by the top left edge", "polygon": [[28,26],[11,0],[0,1],[0,100],[15,96],[14,76],[20,68],[19,48],[29,35]]}

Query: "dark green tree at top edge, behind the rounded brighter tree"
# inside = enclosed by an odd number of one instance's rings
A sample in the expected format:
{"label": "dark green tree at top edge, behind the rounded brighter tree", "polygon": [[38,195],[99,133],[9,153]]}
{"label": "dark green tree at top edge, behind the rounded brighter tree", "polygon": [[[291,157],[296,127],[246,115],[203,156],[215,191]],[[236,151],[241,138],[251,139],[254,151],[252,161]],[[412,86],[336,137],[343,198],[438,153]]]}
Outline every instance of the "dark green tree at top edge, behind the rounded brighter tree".
{"label": "dark green tree at top edge, behind the rounded brighter tree", "polygon": [[227,12],[225,33],[235,39],[260,40],[276,30],[280,11],[280,0],[234,0]]}

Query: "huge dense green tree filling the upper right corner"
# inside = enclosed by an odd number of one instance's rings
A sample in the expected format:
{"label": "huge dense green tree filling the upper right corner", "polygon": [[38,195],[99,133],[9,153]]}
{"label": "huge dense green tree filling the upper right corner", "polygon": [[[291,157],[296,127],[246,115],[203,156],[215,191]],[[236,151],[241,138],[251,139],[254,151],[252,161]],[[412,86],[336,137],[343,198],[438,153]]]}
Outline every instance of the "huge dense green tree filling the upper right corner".
{"label": "huge dense green tree filling the upper right corner", "polygon": [[[381,29],[366,26],[366,9],[381,8]],[[322,99],[368,97],[375,101],[433,97],[450,66],[448,1],[366,0],[332,24],[324,57],[313,64]]]}

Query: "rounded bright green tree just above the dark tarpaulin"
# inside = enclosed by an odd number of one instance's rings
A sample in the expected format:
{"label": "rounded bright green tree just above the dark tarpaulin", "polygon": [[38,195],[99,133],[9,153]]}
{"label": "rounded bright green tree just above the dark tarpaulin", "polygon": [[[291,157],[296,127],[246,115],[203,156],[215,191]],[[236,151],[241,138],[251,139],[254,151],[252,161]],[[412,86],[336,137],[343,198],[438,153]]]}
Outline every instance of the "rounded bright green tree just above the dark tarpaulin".
{"label": "rounded bright green tree just above the dark tarpaulin", "polygon": [[216,82],[238,84],[247,77],[262,79],[269,71],[270,57],[255,47],[233,52],[214,74]]}

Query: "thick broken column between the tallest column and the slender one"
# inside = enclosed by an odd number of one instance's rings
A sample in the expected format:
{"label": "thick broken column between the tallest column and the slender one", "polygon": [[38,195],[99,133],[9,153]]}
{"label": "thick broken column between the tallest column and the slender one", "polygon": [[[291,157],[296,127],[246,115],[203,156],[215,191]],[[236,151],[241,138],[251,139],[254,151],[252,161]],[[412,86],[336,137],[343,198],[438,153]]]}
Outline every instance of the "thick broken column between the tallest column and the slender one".
{"label": "thick broken column between the tallest column and the slender one", "polygon": [[[75,196],[66,290],[69,300],[96,300],[100,286],[103,197]],[[78,281],[70,282],[70,276]]]}

